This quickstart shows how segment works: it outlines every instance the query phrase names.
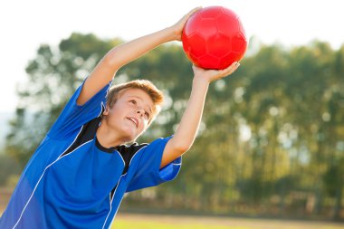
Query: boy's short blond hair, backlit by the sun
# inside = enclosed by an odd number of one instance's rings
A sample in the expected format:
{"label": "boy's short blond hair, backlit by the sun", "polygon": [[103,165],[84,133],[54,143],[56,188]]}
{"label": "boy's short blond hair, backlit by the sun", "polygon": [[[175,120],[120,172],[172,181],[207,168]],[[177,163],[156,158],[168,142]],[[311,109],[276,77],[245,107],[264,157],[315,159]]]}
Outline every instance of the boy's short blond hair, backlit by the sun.
{"label": "boy's short blond hair, backlit by the sun", "polygon": [[163,92],[159,91],[151,81],[135,80],[112,86],[107,95],[107,105],[112,108],[120,96],[122,96],[123,93],[129,89],[139,89],[145,91],[150,99],[153,100],[154,107],[152,108],[152,116],[148,121],[148,123],[151,123],[155,117],[157,117],[164,102]]}

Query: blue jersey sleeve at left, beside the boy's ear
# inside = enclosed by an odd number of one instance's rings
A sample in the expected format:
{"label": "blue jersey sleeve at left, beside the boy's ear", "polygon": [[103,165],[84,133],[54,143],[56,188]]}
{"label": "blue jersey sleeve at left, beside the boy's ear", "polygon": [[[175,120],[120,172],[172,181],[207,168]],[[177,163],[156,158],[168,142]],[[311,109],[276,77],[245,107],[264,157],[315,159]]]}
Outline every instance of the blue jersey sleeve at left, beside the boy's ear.
{"label": "blue jersey sleeve at left, beside the boy's ear", "polygon": [[83,124],[100,116],[102,110],[106,106],[106,95],[112,81],[98,91],[85,104],[78,105],[77,100],[86,79],[73,93],[72,98],[67,102],[52,128],[48,131],[47,136],[49,138],[67,138],[74,133],[75,130],[81,129]]}

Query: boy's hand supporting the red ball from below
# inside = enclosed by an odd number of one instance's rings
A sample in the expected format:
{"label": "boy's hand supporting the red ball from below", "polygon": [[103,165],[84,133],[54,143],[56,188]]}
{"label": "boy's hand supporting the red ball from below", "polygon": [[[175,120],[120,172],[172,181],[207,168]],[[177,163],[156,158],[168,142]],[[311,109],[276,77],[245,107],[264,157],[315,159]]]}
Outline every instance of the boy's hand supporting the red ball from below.
{"label": "boy's hand supporting the red ball from below", "polygon": [[239,65],[239,62],[233,62],[228,68],[224,70],[205,70],[197,67],[196,65],[193,65],[192,69],[194,71],[196,80],[205,80],[210,83],[212,81],[220,80],[232,74],[239,67]]}

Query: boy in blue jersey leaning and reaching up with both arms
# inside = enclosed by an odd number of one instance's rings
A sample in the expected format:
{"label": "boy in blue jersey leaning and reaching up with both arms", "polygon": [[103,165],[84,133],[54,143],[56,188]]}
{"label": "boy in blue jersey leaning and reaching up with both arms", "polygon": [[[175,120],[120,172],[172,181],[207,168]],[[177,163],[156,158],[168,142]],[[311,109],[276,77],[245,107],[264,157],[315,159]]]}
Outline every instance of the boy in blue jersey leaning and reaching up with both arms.
{"label": "boy in blue jersey leaning and reaching up with both arms", "polygon": [[125,192],[177,177],[192,146],[211,81],[231,74],[193,66],[188,105],[176,133],[133,143],[158,114],[162,93],[149,81],[110,88],[119,68],[161,43],[180,41],[188,17],[108,52],[73,94],[34,152],[14,190],[0,228],[109,228]]}

